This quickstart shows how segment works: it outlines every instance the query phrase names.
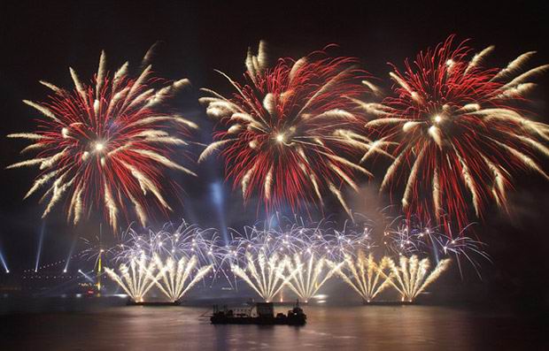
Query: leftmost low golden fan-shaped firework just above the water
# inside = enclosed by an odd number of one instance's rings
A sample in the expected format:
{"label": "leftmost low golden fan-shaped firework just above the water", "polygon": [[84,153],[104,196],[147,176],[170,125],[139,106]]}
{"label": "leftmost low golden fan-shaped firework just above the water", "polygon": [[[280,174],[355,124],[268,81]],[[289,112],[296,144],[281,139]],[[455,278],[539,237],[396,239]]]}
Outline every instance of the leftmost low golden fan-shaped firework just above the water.
{"label": "leftmost low golden fan-shaped firework just above the water", "polygon": [[155,275],[156,268],[154,260],[143,255],[130,260],[128,264],[120,264],[120,274],[111,268],[105,268],[104,271],[133,301],[143,302],[145,294],[157,284],[159,276],[163,273],[159,271]]}

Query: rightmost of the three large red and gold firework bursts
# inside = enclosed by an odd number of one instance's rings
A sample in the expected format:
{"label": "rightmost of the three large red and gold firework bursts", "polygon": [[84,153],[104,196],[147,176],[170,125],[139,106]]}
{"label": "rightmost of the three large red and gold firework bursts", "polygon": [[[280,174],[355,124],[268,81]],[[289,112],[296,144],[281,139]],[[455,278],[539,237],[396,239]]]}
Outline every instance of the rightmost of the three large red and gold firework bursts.
{"label": "rightmost of the three large red and gold firework bursts", "polygon": [[[435,50],[421,52],[406,70],[395,67],[396,97],[360,103],[375,135],[375,154],[389,155],[381,189],[403,187],[408,215],[436,217],[446,226],[468,224],[468,202],[482,217],[487,202],[506,209],[511,176],[533,171],[549,179],[537,155],[549,156],[549,126],[516,107],[535,87],[530,80],[549,65],[525,69],[534,55],[522,54],[504,69],[487,69],[489,47],[472,58],[451,36]],[[360,140],[356,140],[359,142]]]}

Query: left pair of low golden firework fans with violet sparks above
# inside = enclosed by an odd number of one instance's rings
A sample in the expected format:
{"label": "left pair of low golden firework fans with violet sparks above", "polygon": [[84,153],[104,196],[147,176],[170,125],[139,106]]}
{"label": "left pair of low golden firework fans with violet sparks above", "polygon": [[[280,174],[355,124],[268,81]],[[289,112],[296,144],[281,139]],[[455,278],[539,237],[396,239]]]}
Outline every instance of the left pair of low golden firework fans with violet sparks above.
{"label": "left pair of low golden firework fans with violet sparks above", "polygon": [[[128,295],[136,296],[135,301],[143,301],[151,284],[158,286],[170,301],[178,301],[213,270],[221,255],[218,239],[213,229],[202,229],[185,220],[177,227],[167,223],[159,231],[144,233],[129,227],[120,243],[104,254],[112,256],[113,263],[121,262],[121,274],[113,270],[107,274]],[[97,248],[88,251],[95,253]]]}

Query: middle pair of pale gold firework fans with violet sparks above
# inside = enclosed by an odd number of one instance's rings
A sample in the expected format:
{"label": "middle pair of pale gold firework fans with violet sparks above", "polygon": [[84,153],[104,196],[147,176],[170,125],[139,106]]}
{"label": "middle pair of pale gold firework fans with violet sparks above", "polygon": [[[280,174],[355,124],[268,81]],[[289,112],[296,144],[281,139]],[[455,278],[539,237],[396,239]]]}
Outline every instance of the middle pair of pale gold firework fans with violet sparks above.
{"label": "middle pair of pale gold firework fans with violet sparks above", "polygon": [[221,248],[225,251],[221,264],[229,263],[233,275],[265,300],[272,300],[288,286],[308,301],[341,265],[332,261],[339,262],[367,245],[365,231],[354,231],[347,221],[337,229],[329,220],[306,222],[297,216],[276,215],[245,226],[243,233],[232,230],[230,242]]}

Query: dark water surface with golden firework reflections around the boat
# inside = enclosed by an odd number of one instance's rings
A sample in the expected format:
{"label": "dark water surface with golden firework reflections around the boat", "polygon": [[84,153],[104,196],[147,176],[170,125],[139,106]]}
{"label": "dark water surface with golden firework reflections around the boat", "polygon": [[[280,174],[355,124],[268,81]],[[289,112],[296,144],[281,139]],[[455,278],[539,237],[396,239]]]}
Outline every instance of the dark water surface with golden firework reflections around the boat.
{"label": "dark water surface with golden firework reflections around the boat", "polygon": [[[207,307],[0,300],[0,350],[548,350],[539,319],[438,306],[305,306],[308,323],[212,325]],[[289,307],[278,306],[285,312]]]}

